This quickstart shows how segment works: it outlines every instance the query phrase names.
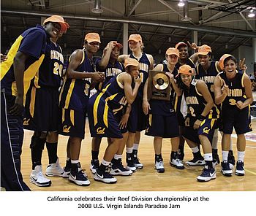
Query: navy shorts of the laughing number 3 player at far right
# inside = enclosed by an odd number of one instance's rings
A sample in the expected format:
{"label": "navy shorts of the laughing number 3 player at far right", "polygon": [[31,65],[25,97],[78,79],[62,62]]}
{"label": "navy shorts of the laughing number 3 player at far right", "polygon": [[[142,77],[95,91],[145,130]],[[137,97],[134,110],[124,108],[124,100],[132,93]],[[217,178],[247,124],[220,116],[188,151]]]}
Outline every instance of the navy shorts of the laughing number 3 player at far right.
{"label": "navy shorts of the laughing number 3 player at far right", "polygon": [[246,134],[252,131],[250,107],[244,109],[222,109],[222,125],[224,134],[232,134],[235,128],[236,134]]}

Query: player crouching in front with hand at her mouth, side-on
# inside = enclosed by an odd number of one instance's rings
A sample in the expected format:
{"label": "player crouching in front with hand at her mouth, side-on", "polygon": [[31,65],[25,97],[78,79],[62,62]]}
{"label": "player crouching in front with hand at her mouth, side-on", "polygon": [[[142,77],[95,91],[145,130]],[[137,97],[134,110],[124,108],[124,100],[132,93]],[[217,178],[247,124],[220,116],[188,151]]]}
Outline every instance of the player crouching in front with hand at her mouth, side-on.
{"label": "player crouching in front with hand at her mouth, side-on", "polygon": [[[140,87],[139,63],[127,58],[124,62],[126,72],[113,77],[102,92],[89,99],[89,123],[92,137],[109,137],[111,143],[105,150],[103,160],[97,169],[94,180],[105,183],[116,183],[116,178],[108,172],[108,166],[118,151],[123,135],[121,133],[121,114],[127,103],[132,104]],[[134,88],[132,89],[132,82]]]}

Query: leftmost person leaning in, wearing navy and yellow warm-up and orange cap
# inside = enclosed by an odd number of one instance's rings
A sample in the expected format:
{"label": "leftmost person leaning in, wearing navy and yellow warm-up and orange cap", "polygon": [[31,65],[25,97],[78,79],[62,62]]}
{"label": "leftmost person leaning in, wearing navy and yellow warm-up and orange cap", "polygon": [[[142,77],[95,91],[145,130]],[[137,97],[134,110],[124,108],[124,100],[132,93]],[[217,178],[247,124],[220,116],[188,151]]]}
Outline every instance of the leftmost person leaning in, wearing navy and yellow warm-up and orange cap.
{"label": "leftmost person leaning in, wearing navy and yellow warm-up and orange cap", "polygon": [[5,190],[30,190],[20,172],[23,105],[30,82],[45,58],[47,41],[60,29],[54,23],[65,26],[63,18],[54,17],[20,34],[6,61],[1,62],[1,187]]}

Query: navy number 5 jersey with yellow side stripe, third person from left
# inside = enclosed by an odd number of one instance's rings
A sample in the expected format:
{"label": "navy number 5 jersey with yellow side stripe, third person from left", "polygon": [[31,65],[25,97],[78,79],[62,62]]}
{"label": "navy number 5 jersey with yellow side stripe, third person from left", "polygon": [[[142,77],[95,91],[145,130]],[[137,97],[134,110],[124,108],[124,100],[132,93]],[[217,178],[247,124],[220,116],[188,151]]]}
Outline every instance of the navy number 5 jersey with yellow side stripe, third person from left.
{"label": "navy number 5 jersey with yellow side stripe, third person from left", "polygon": [[[94,63],[88,58],[85,50],[83,51],[83,59],[75,71],[81,73],[94,72]],[[90,85],[91,78],[70,79],[65,77],[60,93],[60,107],[83,110],[90,96]]]}

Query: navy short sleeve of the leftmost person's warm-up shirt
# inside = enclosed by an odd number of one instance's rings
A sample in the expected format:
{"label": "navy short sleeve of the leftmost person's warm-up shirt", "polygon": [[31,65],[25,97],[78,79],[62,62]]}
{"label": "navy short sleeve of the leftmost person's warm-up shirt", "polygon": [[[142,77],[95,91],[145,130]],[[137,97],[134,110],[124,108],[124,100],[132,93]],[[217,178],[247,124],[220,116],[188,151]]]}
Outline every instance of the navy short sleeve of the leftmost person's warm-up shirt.
{"label": "navy short sleeve of the leftmost person's warm-up shirt", "polygon": [[46,34],[42,30],[33,30],[23,37],[18,51],[39,59],[45,53],[45,45]]}

